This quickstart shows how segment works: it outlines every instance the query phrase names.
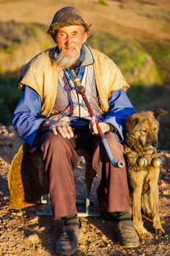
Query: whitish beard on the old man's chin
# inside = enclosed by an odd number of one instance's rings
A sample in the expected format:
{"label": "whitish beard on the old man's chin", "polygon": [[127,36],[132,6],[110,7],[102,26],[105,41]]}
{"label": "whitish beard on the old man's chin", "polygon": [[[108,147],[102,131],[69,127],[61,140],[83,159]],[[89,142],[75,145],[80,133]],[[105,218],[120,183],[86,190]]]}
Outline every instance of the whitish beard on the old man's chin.
{"label": "whitish beard on the old man's chin", "polygon": [[79,57],[77,57],[77,56],[72,57],[72,58],[65,57],[65,55],[63,53],[63,49],[62,49],[62,51],[57,56],[56,64],[61,67],[69,68],[76,63],[77,59],[79,59]]}

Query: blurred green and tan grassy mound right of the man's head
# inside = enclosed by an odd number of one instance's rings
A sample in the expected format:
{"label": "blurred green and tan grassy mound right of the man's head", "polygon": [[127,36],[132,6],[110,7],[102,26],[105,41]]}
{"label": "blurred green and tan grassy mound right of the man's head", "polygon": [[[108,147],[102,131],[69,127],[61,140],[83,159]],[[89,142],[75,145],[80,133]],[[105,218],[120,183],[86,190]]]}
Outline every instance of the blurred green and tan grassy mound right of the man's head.
{"label": "blurred green and tan grassy mound right of the man's head", "polygon": [[128,83],[146,86],[161,84],[161,76],[152,57],[136,40],[91,30],[88,43],[108,55],[116,65],[120,66]]}

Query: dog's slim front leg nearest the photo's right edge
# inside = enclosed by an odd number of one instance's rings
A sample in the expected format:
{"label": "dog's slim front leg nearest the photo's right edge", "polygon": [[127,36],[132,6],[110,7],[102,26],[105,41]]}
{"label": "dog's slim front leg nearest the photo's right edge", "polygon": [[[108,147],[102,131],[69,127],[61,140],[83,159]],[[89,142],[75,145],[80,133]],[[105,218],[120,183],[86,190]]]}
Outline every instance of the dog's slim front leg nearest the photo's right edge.
{"label": "dog's slim front leg nearest the photo's right edge", "polygon": [[[153,172],[156,172],[153,170]],[[156,175],[155,175],[156,176]],[[160,216],[159,216],[159,189],[157,184],[157,179],[151,179],[149,185],[150,185],[150,193],[149,193],[149,199],[151,202],[151,210],[153,215],[153,226],[155,228],[156,234],[163,234],[165,231],[163,230],[161,226]]]}

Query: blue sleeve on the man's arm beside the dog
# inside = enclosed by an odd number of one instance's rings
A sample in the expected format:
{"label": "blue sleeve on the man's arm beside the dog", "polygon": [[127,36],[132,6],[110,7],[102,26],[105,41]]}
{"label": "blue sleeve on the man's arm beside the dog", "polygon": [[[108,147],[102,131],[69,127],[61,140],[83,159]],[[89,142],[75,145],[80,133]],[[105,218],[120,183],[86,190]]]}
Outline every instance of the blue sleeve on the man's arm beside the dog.
{"label": "blue sleeve on the man's arm beside the dog", "polygon": [[134,113],[134,108],[128,99],[124,90],[114,91],[109,98],[110,110],[103,120],[105,123],[111,123],[116,127],[118,139],[120,142],[124,139],[125,119]]}

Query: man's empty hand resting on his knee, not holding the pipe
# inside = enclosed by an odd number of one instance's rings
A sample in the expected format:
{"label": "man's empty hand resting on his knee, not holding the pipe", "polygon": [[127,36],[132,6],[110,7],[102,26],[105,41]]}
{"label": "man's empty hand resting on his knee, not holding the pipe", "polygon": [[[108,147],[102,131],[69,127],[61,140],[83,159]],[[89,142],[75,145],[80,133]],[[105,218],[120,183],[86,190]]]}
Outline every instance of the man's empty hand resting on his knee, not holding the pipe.
{"label": "man's empty hand resting on his knee, not holding the pipe", "polygon": [[52,131],[54,135],[57,135],[58,132],[62,137],[67,139],[74,137],[71,126],[65,121],[46,120],[43,124],[43,129]]}

